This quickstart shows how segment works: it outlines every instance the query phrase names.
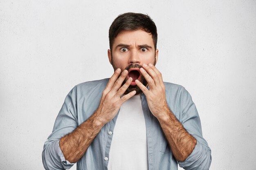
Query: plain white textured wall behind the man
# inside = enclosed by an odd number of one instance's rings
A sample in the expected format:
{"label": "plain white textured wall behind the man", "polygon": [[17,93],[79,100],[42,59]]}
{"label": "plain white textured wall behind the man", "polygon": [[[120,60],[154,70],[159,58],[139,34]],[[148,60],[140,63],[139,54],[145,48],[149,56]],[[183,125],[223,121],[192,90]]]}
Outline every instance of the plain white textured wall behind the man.
{"label": "plain white textured wall behind the man", "polygon": [[44,169],[43,144],[65,96],[112,75],[108,29],[129,11],[155,21],[156,66],[191,93],[210,169],[255,170],[255,0],[0,0],[1,170]]}

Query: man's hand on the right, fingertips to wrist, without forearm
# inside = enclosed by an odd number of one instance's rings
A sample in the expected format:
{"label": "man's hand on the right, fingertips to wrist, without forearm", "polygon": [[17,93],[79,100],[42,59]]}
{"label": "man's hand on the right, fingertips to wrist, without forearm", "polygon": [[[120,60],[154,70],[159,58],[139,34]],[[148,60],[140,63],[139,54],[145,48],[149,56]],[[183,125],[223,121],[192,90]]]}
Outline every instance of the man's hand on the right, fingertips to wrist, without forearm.
{"label": "man's hand on the right, fingertips to wrist, without forearm", "polygon": [[[166,113],[169,108],[166,103],[165,86],[162,79],[162,74],[153,64],[143,64],[140,68],[141,74],[148,82],[150,90],[148,90],[139,80],[136,80],[137,86],[146,95],[148,107],[151,113],[158,118],[163,117],[162,113]],[[145,71],[146,70],[146,71]]]}

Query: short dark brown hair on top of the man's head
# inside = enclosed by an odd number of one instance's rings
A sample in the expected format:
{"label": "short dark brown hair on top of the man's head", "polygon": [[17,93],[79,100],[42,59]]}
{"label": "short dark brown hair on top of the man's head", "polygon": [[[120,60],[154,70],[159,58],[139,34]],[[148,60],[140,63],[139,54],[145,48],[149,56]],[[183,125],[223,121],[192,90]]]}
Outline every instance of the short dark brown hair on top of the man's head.
{"label": "short dark brown hair on top of the man's head", "polygon": [[138,30],[141,29],[150,33],[153,38],[155,50],[157,49],[157,27],[148,15],[142,13],[123,13],[112,22],[109,32],[109,46],[112,49],[113,43],[117,35],[124,30]]}

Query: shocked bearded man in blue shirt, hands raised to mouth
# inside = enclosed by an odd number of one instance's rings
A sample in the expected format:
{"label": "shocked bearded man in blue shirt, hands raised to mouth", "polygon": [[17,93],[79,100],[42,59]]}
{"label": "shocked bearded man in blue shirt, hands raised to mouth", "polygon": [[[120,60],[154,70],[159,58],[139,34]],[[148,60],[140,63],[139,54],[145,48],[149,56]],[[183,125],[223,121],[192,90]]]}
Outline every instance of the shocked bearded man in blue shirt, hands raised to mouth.
{"label": "shocked bearded man in blue shirt, hands raised to mouth", "polygon": [[109,29],[110,79],[67,95],[45,142],[45,169],[207,170],[211,150],[189,93],[155,67],[157,29],[140,13],[119,15]]}

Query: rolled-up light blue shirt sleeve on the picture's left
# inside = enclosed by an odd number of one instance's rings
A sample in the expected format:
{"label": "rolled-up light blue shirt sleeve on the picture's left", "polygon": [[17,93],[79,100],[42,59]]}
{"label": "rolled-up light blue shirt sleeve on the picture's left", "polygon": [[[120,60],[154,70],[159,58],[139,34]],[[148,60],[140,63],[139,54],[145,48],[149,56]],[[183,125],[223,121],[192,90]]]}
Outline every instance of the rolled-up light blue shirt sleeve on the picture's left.
{"label": "rolled-up light blue shirt sleeve on the picture's left", "polygon": [[74,163],[65,160],[59,146],[61,137],[72,132],[77,126],[76,87],[65,98],[65,102],[55,120],[52,134],[43,147],[42,159],[46,170],[70,169]]}

